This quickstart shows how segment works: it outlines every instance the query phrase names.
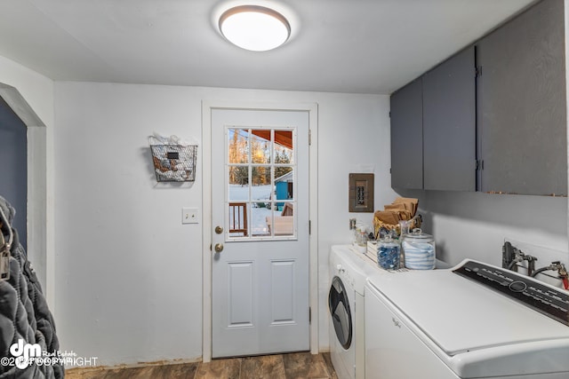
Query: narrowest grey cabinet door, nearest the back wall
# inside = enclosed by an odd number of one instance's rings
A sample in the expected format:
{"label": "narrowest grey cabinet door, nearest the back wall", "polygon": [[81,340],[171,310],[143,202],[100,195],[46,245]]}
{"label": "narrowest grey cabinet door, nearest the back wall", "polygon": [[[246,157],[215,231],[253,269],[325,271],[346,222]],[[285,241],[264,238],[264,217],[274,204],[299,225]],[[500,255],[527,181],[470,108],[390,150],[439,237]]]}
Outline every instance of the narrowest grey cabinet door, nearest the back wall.
{"label": "narrowest grey cabinet door, nearest the back wall", "polygon": [[391,186],[422,189],[421,78],[391,95]]}

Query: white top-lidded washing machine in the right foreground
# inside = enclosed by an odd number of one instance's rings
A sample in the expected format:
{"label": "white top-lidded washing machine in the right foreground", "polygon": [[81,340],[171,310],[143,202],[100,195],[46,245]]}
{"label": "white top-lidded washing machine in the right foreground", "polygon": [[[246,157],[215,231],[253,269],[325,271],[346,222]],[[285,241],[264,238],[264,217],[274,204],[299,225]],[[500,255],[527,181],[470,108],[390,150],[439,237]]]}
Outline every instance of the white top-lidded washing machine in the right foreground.
{"label": "white top-lidded washing machine in the right foreground", "polygon": [[493,265],[370,275],[368,379],[567,379],[569,293]]}

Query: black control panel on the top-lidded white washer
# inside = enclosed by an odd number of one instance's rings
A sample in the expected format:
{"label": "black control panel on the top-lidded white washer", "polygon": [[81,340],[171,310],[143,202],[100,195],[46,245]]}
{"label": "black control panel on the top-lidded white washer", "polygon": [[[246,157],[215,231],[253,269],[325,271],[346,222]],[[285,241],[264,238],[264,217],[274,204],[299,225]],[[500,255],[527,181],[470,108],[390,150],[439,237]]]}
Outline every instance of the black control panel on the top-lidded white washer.
{"label": "black control panel on the top-lidded white washer", "polygon": [[569,326],[569,294],[561,288],[552,288],[531,277],[477,261],[467,260],[453,272]]}

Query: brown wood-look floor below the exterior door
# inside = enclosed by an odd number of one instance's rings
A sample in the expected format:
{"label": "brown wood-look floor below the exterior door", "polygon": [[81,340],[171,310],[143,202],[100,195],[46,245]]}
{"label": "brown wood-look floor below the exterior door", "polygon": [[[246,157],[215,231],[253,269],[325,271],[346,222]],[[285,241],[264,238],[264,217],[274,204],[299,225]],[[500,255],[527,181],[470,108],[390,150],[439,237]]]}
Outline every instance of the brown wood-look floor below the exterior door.
{"label": "brown wood-look floor below the exterior door", "polygon": [[132,368],[71,368],[66,379],[338,379],[330,353],[294,352]]}

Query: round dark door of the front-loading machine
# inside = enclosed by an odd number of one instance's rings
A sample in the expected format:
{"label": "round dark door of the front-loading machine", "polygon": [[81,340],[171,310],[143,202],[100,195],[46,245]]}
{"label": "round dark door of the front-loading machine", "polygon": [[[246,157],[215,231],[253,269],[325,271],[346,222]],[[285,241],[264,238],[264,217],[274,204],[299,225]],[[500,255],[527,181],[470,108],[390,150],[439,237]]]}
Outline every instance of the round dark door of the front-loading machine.
{"label": "round dark door of the front-loading machine", "polygon": [[337,276],[334,276],[328,294],[328,308],[332,316],[336,337],[341,346],[348,350],[352,343],[352,313],[349,310],[346,288]]}

